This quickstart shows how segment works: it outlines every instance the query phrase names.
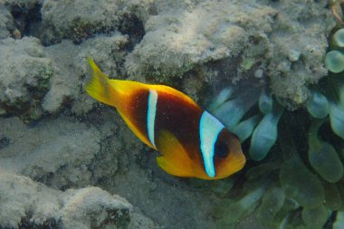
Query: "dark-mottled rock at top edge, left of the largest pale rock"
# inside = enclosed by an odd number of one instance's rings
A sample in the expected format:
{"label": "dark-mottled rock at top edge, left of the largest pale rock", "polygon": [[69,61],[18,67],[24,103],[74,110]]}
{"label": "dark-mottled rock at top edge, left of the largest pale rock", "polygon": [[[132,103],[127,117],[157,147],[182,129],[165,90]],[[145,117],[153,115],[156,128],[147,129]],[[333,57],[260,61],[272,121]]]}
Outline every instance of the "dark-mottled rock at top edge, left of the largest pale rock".
{"label": "dark-mottled rock at top edge, left of the largest pale rock", "polygon": [[[42,6],[43,34],[45,43],[60,42],[62,38],[81,43],[94,33],[138,34],[129,28],[132,20],[139,27],[140,20],[148,18],[148,11],[153,1],[67,1],[47,0]],[[135,38],[133,38],[135,40]]]}

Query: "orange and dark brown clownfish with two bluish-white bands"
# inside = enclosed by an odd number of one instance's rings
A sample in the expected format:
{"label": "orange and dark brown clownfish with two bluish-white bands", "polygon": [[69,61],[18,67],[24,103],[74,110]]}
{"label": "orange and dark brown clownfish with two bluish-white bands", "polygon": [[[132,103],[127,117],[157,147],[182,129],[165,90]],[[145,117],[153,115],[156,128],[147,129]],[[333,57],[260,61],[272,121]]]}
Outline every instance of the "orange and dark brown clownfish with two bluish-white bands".
{"label": "orange and dark brown clownfish with two bluish-white bands", "polygon": [[87,93],[115,107],[129,129],[161,154],[158,166],[168,174],[210,180],[244,167],[239,139],[186,94],[165,85],[110,80],[88,62]]}

